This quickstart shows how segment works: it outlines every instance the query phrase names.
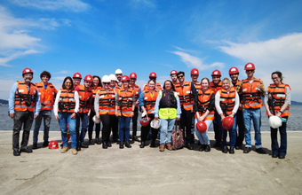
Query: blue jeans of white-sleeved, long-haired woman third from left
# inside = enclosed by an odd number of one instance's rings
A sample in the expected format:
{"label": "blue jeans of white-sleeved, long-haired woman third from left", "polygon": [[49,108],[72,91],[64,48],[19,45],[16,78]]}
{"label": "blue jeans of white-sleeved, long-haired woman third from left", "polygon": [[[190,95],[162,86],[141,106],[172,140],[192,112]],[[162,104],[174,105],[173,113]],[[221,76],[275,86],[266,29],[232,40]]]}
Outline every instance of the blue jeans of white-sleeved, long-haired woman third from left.
{"label": "blue jeans of white-sleeved, long-haired woman third from left", "polygon": [[[76,148],[76,119],[71,119],[72,113],[59,113],[59,126],[63,146],[68,146],[68,129],[71,138],[71,147]],[[68,125],[67,125],[68,124]]]}

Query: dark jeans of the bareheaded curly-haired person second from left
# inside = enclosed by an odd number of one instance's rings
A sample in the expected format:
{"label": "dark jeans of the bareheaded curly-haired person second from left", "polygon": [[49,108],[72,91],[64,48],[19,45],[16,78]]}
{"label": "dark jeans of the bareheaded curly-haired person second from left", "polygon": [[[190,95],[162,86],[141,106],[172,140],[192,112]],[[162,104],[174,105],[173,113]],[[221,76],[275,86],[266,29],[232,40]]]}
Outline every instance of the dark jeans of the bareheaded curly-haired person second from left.
{"label": "dark jeans of the bareheaded curly-haired person second from left", "polygon": [[48,142],[49,128],[52,121],[52,111],[40,111],[39,115],[35,120],[35,129],[33,136],[33,143],[36,144],[39,136],[39,129],[41,126],[42,119],[44,120],[44,142]]}

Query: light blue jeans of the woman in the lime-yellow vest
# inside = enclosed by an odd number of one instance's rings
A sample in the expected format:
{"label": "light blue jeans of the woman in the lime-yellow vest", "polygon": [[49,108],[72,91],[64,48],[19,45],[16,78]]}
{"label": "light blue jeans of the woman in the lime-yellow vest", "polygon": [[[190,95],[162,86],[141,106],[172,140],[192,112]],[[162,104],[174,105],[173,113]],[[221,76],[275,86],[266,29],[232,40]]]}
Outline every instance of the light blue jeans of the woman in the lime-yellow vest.
{"label": "light blue jeans of the woman in the lime-yellow vest", "polygon": [[172,143],[172,129],[176,119],[161,119],[160,144]]}

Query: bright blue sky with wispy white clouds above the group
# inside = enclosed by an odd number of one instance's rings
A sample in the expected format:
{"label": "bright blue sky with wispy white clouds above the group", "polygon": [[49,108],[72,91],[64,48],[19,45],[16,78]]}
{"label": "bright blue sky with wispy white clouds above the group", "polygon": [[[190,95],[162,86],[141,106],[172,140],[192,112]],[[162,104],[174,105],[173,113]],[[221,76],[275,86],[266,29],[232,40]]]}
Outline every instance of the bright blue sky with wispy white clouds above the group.
{"label": "bright blue sky with wispy white clouds above the group", "polygon": [[0,98],[7,99],[21,71],[44,70],[60,89],[63,78],[200,70],[199,81],[219,69],[256,66],[265,85],[280,70],[301,100],[302,1],[2,0],[0,2]]}

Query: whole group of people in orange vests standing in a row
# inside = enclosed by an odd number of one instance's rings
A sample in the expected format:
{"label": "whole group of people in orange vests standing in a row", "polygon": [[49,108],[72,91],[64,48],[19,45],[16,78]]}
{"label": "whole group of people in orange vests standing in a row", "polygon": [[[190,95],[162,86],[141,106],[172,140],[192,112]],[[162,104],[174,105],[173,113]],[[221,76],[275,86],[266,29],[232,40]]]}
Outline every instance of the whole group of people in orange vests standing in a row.
{"label": "whole group of people in orange vests standing in a row", "polygon": [[[90,74],[83,78],[76,73],[73,77],[66,77],[62,88],[56,90],[49,82],[51,74],[44,71],[40,74],[41,82],[32,83],[33,72],[25,68],[22,72],[22,82],[12,86],[9,98],[9,114],[14,120],[12,134],[13,155],[20,152],[32,152],[28,148],[28,136],[35,120],[32,149],[37,148],[37,137],[41,122],[44,119],[44,146],[49,144],[49,128],[52,110],[55,119],[59,121],[62,149],[68,152],[68,139],[71,138],[71,152],[76,154],[81,148],[87,148],[84,138],[88,131],[89,144],[102,144],[102,148],[111,147],[112,142],[119,141],[119,148],[131,148],[132,141],[139,141],[137,137],[138,115],[141,115],[140,148],[147,145],[158,147],[155,141],[160,135],[159,151],[172,150],[171,131],[180,121],[179,129],[183,129],[185,146],[193,150],[195,135],[201,145],[199,151],[210,152],[211,144],[208,130],[213,123],[215,144],[224,153],[234,153],[234,149],[242,149],[245,138],[244,153],[251,151],[251,121],[255,130],[256,152],[266,153],[261,146],[261,111],[262,98],[265,98],[266,114],[282,117],[279,128],[281,145],[277,141],[278,129],[271,128],[272,157],[284,159],[287,151],[286,124],[290,116],[290,86],[282,82],[282,73],[272,74],[274,83],[267,90],[260,79],[254,77],[255,65],[248,63],[244,70],[245,80],[240,81],[236,67],[229,69],[229,78],[221,80],[219,70],[214,70],[210,81],[204,77],[198,82],[199,71],[191,71],[191,82],[186,81],[182,71],[171,71],[171,80],[163,83],[156,82],[156,74],[149,74],[149,81],[139,88],[136,84],[137,74],[123,75],[117,69],[115,74],[99,76]],[[232,118],[233,127],[226,129],[223,121]],[[102,123],[101,138],[100,121]],[[130,123],[132,121],[132,135]],[[155,128],[160,121],[160,128]],[[203,121],[205,131],[196,130],[196,124]],[[93,126],[95,139],[92,139]],[[21,144],[19,144],[20,129],[24,125]],[[81,132],[80,132],[81,125]],[[237,130],[238,127],[238,130]],[[112,132],[112,142],[110,134]],[[227,132],[229,147],[227,146]]]}

